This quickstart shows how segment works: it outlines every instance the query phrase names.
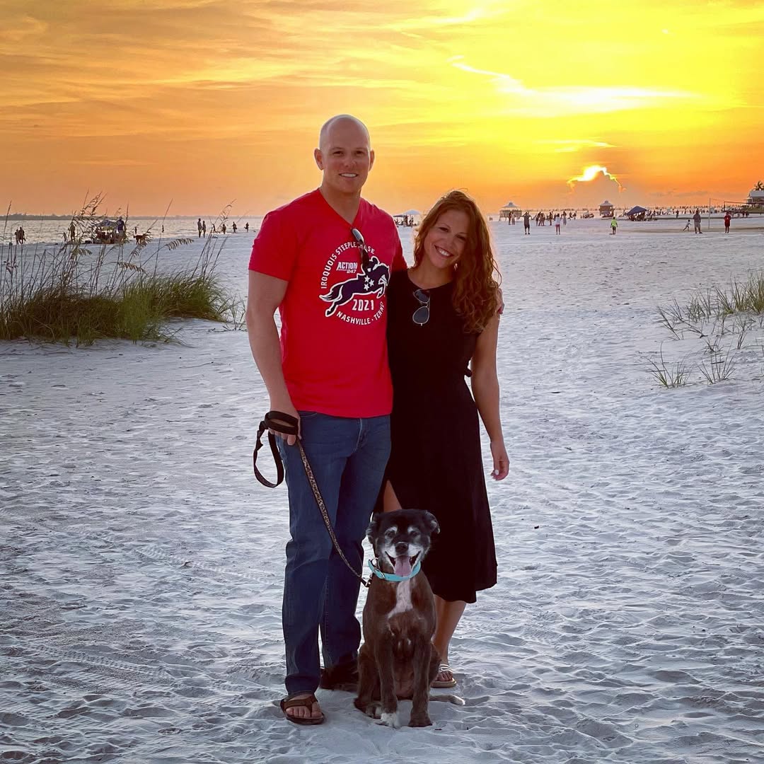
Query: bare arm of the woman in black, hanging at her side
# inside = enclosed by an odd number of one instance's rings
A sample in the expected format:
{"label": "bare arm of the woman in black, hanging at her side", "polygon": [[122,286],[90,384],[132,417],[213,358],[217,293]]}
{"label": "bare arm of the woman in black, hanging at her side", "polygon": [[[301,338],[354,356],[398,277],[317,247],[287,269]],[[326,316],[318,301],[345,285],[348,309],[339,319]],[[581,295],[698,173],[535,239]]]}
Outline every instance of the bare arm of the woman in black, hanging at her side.
{"label": "bare arm of the woman in black, hanging at her side", "polygon": [[499,316],[493,316],[478,336],[472,356],[472,395],[490,439],[494,458],[494,480],[503,480],[510,471],[510,458],[504,446],[499,413],[499,380],[496,373],[496,347],[499,338]]}

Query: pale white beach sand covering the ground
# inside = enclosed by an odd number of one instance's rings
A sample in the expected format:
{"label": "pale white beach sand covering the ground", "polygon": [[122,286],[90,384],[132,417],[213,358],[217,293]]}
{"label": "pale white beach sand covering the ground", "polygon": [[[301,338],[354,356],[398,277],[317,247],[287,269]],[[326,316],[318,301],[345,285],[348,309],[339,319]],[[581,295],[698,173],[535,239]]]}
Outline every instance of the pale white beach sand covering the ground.
{"label": "pale white beach sand covering the ground", "polygon": [[[0,761],[761,761],[764,334],[713,386],[661,389],[645,358],[702,358],[656,306],[761,268],[764,236],[649,225],[494,222],[500,578],[452,643],[467,704],[427,729],[343,692],[319,691],[322,727],[277,707],[286,491],[251,474],[267,399],[244,332],[0,345]],[[221,258],[242,293],[250,238]]]}

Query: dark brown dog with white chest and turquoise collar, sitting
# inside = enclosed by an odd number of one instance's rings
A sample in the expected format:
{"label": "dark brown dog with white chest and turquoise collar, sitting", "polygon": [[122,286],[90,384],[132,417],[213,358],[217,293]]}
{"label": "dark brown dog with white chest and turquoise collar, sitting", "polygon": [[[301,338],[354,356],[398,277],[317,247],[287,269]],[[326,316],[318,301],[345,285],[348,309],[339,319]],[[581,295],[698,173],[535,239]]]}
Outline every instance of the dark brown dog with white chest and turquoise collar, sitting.
{"label": "dark brown dog with white chest and turquoise collar, sitting", "polygon": [[[376,513],[366,535],[377,556],[364,605],[364,644],[358,652],[354,705],[387,727],[400,727],[398,701],[411,700],[410,727],[429,727],[429,688],[440,656],[432,646],[435,601],[419,572],[439,533],[429,512]],[[389,578],[392,577],[392,578]]]}

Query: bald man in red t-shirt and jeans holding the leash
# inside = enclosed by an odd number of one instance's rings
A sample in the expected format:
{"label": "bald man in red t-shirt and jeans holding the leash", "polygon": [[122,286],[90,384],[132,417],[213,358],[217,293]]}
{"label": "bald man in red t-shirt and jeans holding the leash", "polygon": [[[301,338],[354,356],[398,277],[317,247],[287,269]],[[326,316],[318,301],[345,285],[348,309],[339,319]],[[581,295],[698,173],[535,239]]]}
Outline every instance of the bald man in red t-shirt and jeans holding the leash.
{"label": "bald man in red t-shirt and jeans holding the leash", "polygon": [[[254,240],[247,326],[270,409],[298,419],[335,535],[360,572],[361,541],[390,453],[384,292],[392,270],[406,263],[393,219],[361,198],[374,164],[365,125],[350,115],[331,118],[313,156],[322,170],[319,189],[268,213]],[[294,443],[290,435],[279,444],[291,535],[281,707],[296,724],[320,724],[319,682],[331,689],[357,678],[359,579],[332,548]]]}

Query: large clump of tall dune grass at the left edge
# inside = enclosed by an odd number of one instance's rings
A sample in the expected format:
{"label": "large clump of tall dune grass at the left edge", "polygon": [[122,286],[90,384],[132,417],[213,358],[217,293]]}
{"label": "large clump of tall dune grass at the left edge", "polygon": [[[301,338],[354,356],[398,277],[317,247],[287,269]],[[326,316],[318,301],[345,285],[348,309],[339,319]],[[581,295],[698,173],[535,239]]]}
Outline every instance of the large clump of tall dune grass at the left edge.
{"label": "large clump of tall dune grass at the left edge", "polygon": [[73,217],[74,241],[42,251],[8,247],[0,271],[0,340],[169,342],[170,319],[228,320],[235,300],[215,275],[220,248],[212,237],[196,264],[163,270],[163,252],[195,240],[160,241],[148,255],[148,244],[92,244],[99,202],[92,199]]}

